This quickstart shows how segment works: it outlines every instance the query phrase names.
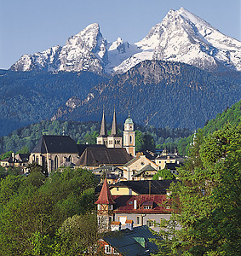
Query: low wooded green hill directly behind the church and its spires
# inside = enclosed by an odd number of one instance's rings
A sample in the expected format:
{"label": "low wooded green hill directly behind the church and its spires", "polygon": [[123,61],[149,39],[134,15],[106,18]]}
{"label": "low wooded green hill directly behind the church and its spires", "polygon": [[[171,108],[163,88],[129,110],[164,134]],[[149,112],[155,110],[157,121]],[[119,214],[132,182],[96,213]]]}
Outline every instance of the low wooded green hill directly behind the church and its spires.
{"label": "low wooded green hill directly behind the church and its spires", "polygon": [[[122,128],[123,125],[118,125]],[[107,129],[111,131],[111,124],[107,124]],[[178,141],[192,134],[188,129],[155,128],[153,126],[135,125],[136,129],[136,149],[155,150],[155,148],[168,148],[174,151]],[[34,125],[22,127],[13,131],[9,136],[0,138],[0,154],[14,151],[16,153],[22,148],[29,151],[35,147],[43,134],[46,135],[69,135],[76,143],[95,144],[96,137],[100,132],[100,122],[74,122],[74,121],[42,121]],[[123,132],[119,129],[119,134]]]}

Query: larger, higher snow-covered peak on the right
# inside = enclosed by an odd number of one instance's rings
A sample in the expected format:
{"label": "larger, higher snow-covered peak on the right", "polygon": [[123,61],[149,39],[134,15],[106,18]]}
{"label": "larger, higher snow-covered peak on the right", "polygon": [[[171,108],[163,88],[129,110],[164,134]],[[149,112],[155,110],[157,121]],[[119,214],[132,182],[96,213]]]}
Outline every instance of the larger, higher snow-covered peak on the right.
{"label": "larger, higher snow-covered peak on the right", "polygon": [[152,59],[180,61],[207,70],[226,66],[241,71],[241,43],[183,8],[170,10],[135,45],[141,52],[115,67],[116,72],[126,72],[137,63]]}

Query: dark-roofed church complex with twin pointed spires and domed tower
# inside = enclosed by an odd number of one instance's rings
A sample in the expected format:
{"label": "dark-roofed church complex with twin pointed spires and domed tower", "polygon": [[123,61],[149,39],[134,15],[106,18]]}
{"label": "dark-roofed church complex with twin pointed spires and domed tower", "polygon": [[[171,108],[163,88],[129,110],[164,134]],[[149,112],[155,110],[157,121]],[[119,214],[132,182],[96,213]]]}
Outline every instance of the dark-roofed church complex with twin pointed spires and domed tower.
{"label": "dark-roofed church complex with twin pointed spires and domed tower", "polygon": [[77,144],[69,136],[43,135],[32,149],[30,163],[47,167],[53,172],[60,166],[79,166],[94,170],[100,166],[122,167],[135,157],[135,130],[133,120],[124,123],[123,137],[118,133],[116,112],[113,113],[112,131],[107,134],[103,111],[100,135],[95,145]]}

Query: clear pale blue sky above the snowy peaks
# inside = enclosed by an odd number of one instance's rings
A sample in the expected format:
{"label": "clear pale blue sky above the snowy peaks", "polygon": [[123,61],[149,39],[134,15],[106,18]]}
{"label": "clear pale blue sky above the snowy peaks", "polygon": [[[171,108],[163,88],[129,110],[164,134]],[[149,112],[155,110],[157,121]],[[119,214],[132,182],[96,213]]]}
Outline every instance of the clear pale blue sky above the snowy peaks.
{"label": "clear pale blue sky above the snowy peaks", "polygon": [[0,68],[21,55],[63,46],[95,22],[107,40],[135,43],[169,9],[181,7],[241,41],[241,0],[0,0]]}

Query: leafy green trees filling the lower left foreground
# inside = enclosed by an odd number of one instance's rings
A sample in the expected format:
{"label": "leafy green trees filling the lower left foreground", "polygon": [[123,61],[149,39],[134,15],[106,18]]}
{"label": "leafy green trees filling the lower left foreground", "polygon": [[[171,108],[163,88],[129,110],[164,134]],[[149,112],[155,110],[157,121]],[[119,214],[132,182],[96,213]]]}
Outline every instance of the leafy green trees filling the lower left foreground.
{"label": "leafy green trees filling the lower left foreground", "polygon": [[91,172],[67,168],[2,179],[0,255],[80,255],[95,245],[96,184]]}

